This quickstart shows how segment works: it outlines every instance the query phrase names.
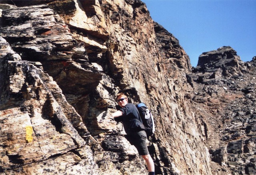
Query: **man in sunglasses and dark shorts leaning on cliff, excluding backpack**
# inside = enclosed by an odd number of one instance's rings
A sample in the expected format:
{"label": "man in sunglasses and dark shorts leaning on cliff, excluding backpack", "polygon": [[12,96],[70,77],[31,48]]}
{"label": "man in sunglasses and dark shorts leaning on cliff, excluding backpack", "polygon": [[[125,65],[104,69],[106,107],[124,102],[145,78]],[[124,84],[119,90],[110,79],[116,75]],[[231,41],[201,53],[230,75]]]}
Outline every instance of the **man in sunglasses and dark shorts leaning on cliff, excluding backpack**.
{"label": "man in sunglasses and dark shorts leaning on cliff, excluding backpack", "polygon": [[138,153],[146,161],[149,175],[154,175],[154,161],[148,152],[145,127],[142,124],[142,120],[136,106],[128,103],[128,98],[123,93],[117,94],[116,100],[121,108],[114,112],[112,117],[114,117],[117,122],[122,121],[128,141],[136,147]]}

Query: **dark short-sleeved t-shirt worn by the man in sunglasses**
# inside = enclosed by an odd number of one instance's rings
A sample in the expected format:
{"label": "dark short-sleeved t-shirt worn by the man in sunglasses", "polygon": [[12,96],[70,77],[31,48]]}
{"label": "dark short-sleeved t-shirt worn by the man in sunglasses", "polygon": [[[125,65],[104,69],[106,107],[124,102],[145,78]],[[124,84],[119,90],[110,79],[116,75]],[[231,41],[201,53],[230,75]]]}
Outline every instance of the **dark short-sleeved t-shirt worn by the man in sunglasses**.
{"label": "dark short-sleeved t-shirt worn by the man in sunglasses", "polygon": [[118,117],[123,122],[126,134],[132,134],[144,130],[144,125],[140,118],[140,114],[136,106],[132,103],[127,103],[123,108],[119,109],[123,115]]}

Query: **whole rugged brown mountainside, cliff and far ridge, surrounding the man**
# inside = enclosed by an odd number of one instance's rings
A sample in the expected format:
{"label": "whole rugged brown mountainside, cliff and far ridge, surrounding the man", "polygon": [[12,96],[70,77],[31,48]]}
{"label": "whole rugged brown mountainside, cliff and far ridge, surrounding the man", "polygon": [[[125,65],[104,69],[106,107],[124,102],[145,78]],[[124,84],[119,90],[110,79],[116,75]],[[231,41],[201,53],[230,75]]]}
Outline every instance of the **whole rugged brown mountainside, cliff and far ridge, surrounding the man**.
{"label": "whole rugged brown mountainside, cliff and far ridge, surrounding the man", "polygon": [[[255,96],[255,61],[245,64],[223,47],[203,53],[192,72],[178,40],[152,21],[140,0],[0,3],[1,175],[147,174],[110,118],[120,91],[154,113],[157,130],[148,148],[156,174],[212,174],[214,162],[229,165],[225,171],[253,172],[255,109],[249,106],[255,101],[244,99]],[[236,95],[228,94],[241,76],[248,78]],[[234,107],[222,104],[234,99],[248,109],[228,113]],[[250,122],[238,123],[244,110]],[[232,115],[237,120],[228,125]],[[237,140],[229,127],[247,129]],[[240,152],[232,146],[239,143]],[[244,163],[239,156],[247,156]]]}

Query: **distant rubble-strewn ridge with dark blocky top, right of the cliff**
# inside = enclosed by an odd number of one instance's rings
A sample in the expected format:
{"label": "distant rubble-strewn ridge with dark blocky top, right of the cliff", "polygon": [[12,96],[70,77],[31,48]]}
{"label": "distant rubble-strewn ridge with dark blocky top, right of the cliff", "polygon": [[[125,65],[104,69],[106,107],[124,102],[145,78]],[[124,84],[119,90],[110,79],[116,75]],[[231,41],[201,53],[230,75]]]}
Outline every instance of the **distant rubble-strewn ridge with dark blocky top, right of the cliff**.
{"label": "distant rubble-strewn ridge with dark blocky top, right of the cliff", "polygon": [[[255,58],[244,63],[232,47],[202,53],[193,69],[192,100],[208,121],[214,174],[255,174]],[[216,167],[217,166],[217,167]]]}

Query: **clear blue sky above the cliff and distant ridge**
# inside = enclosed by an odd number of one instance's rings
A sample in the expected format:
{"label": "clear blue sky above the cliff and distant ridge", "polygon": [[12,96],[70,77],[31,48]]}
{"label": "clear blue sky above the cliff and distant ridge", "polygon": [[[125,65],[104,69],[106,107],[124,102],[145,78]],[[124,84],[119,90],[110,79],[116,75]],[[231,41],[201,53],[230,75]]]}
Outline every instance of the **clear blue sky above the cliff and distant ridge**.
{"label": "clear blue sky above the cliff and distant ridge", "polygon": [[256,56],[256,0],[142,0],[179,41],[193,67],[206,51],[231,46],[242,61]]}

